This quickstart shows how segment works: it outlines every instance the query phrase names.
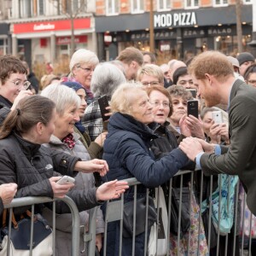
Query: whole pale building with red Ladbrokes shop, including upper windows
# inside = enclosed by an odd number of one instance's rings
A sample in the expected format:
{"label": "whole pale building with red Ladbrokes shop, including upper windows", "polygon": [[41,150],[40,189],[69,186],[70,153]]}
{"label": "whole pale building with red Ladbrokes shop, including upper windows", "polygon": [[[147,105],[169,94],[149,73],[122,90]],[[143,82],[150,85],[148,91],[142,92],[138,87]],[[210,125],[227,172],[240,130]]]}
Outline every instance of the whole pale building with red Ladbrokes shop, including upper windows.
{"label": "whole pale building with red Ladbrokes shop, including upper windows", "polygon": [[38,61],[53,63],[63,55],[70,55],[72,37],[75,49],[86,48],[96,51],[94,1],[5,2],[9,2],[9,8],[3,25],[8,26],[8,34],[2,46],[0,35],[0,49],[4,49],[2,54],[9,51],[30,65]]}

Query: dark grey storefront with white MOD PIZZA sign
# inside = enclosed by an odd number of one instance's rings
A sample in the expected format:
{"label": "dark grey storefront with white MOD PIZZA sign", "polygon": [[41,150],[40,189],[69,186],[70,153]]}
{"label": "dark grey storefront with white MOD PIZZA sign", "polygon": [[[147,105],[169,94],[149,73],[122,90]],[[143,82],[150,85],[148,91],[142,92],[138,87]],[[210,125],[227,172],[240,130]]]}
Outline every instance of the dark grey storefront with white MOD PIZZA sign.
{"label": "dark grey storefront with white MOD PIZZA sign", "polygon": [[[249,50],[247,43],[252,36],[252,5],[242,5],[241,21],[243,49]],[[99,32],[98,41],[102,45],[103,33],[112,38],[111,44],[108,42],[111,50],[105,44],[107,54],[102,55],[102,58],[115,58],[114,48],[118,52],[127,46],[148,50],[149,14],[98,16],[96,32]],[[217,49],[226,55],[232,55],[237,52],[236,6],[154,13],[154,45],[159,63],[172,58],[186,61],[206,49]],[[100,51],[100,56],[101,53]]]}

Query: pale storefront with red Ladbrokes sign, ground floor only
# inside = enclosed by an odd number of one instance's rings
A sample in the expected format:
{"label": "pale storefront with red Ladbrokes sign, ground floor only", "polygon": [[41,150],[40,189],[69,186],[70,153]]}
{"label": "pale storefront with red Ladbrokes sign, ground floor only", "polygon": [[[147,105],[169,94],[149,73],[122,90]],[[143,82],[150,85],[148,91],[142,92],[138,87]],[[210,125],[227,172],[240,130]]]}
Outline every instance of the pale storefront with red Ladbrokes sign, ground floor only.
{"label": "pale storefront with red Ladbrokes sign, ground floor only", "polygon": [[[75,48],[96,51],[96,36],[91,17],[73,20]],[[55,62],[63,55],[70,55],[71,20],[47,20],[16,23],[12,26],[14,55],[34,63]]]}

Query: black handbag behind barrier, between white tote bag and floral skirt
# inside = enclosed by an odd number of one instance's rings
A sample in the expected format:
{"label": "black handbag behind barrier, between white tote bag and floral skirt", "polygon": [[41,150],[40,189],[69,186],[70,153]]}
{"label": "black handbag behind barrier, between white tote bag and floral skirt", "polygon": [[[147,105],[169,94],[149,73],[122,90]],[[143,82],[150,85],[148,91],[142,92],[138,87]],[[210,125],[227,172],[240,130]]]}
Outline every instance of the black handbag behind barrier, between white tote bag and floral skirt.
{"label": "black handbag behind barrier, between white tote bag and floral skirt", "polygon": [[180,203],[181,207],[181,224],[180,235],[183,236],[190,228],[190,201],[189,201],[189,187],[183,187],[182,202],[180,202],[180,189],[172,188],[172,206],[171,206],[171,225],[170,231],[172,235],[177,236],[178,233],[178,209]]}

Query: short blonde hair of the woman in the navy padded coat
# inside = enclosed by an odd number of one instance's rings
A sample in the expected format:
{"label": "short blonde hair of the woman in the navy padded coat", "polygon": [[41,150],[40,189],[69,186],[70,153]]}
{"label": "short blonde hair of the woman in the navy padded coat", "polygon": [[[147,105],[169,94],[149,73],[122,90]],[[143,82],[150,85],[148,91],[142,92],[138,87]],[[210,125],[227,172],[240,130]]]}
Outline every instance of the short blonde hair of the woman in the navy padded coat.
{"label": "short blonde hair of the woman in the navy padded coat", "polygon": [[117,90],[113,92],[110,102],[111,111],[132,115],[132,96],[136,95],[139,90],[143,90],[142,84],[128,82],[120,84]]}

